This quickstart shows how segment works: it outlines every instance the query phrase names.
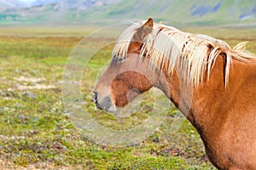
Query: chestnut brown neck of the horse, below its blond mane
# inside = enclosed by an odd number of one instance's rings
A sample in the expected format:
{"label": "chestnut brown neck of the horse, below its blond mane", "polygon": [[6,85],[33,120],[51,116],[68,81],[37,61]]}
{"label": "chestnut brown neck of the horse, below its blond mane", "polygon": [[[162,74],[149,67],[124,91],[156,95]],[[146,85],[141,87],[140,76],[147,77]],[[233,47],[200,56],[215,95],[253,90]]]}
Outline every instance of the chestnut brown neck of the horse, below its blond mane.
{"label": "chestnut brown neck of the horse, below its blond mane", "polygon": [[[172,76],[166,74],[166,77],[168,77],[167,81],[165,80],[166,83],[160,82],[159,88],[172,100],[179,111],[183,112],[183,115],[197,128],[199,133],[203,133],[202,129],[215,124],[216,116],[218,116],[217,104],[224,106],[221,100],[217,100],[227,93],[224,86],[223,57],[218,57],[208,82],[201,82],[199,87],[195,88],[187,83],[181,83],[181,78],[178,77],[176,71],[173,71]],[[209,105],[215,105],[215,107],[209,107]]]}

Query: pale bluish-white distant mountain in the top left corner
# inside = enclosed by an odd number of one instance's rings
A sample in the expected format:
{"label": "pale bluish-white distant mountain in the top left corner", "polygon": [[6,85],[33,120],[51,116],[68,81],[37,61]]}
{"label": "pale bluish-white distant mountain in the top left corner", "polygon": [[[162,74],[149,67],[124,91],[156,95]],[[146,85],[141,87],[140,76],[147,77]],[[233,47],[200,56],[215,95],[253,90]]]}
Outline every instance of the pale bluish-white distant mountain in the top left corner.
{"label": "pale bluish-white distant mountain in the top left corner", "polygon": [[19,0],[0,0],[0,11],[14,8],[26,8],[28,3],[23,3]]}

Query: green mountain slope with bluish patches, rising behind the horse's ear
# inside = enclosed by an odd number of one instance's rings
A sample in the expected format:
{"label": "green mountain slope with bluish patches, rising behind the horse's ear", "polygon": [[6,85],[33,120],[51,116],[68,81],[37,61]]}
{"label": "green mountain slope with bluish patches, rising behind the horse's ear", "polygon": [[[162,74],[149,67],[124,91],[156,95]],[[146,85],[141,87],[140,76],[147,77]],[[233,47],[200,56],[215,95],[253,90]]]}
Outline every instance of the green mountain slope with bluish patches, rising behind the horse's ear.
{"label": "green mountain slope with bluish patches, rising behind the horse's ear", "polygon": [[116,23],[153,17],[166,24],[224,25],[256,21],[256,0],[122,0],[75,11],[65,17],[87,22]]}

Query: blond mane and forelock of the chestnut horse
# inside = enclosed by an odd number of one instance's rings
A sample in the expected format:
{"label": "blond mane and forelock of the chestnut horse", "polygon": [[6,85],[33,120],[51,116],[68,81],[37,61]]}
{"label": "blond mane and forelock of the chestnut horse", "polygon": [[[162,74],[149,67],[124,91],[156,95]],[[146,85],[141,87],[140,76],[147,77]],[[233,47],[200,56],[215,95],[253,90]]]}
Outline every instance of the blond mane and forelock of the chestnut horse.
{"label": "blond mane and forelock of the chestnut horse", "polygon": [[[128,27],[119,37],[113,49],[113,57],[124,58],[131,39],[137,28],[145,21]],[[197,87],[205,77],[210,76],[213,65],[220,54],[225,59],[225,86],[229,82],[232,59],[247,61],[253,54],[246,50],[247,42],[241,42],[234,48],[221,40],[201,34],[191,34],[177,30],[171,26],[154,23],[153,31],[143,39],[140,56],[149,55],[151,65],[162,69],[167,65],[167,71],[172,74],[174,69],[181,73],[187,82]]]}

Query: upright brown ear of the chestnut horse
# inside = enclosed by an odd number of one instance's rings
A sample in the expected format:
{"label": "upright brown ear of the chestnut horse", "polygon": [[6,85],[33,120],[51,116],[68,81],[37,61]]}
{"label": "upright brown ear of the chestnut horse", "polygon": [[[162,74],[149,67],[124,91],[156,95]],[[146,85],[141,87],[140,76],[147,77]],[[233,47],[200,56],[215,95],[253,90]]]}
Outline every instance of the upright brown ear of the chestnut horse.
{"label": "upright brown ear of the chestnut horse", "polygon": [[138,42],[142,42],[144,37],[148,36],[148,34],[153,30],[153,20],[149,18],[143,26],[137,29],[136,34],[134,35],[134,40]]}

